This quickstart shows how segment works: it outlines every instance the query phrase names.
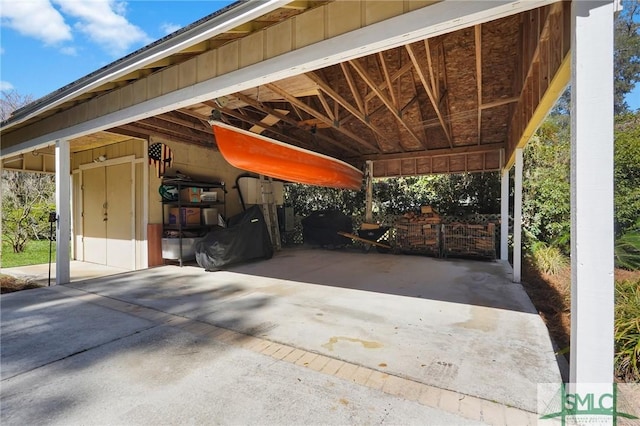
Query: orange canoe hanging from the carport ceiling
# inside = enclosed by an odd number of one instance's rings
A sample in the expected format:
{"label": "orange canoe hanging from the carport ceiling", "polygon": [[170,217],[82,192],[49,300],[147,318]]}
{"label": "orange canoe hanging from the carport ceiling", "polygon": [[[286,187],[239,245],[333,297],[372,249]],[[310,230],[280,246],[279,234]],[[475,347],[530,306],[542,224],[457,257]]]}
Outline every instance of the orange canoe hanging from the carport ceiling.
{"label": "orange canoe hanging from the carport ceiling", "polygon": [[344,161],[218,121],[211,127],[220,153],[239,169],[309,185],[362,187],[362,172]]}

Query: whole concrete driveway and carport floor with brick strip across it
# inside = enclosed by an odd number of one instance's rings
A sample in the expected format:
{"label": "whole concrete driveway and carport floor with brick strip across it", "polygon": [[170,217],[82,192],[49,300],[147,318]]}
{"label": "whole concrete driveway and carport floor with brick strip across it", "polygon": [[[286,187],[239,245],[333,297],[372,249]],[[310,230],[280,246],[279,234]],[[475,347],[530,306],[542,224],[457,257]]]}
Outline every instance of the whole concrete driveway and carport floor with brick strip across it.
{"label": "whole concrete driveway and carport floor with brick strip across it", "polygon": [[498,262],[285,250],[3,295],[3,424],[534,424],[561,381]]}

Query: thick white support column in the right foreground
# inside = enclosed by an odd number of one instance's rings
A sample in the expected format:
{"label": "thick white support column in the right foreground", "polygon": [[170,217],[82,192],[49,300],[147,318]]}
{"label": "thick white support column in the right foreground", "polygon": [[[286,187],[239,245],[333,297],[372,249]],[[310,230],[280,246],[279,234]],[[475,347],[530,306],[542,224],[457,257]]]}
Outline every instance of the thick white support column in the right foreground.
{"label": "thick white support column in the right foreground", "polygon": [[570,381],[603,392],[614,354],[613,12],[609,1],[571,3]]}

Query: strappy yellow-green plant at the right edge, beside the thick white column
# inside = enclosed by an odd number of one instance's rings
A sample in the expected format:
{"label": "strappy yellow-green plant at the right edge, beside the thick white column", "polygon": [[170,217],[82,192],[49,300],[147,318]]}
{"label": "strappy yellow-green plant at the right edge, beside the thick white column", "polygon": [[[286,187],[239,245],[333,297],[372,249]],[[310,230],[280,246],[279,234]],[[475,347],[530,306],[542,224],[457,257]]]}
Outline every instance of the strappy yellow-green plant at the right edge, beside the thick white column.
{"label": "strappy yellow-green plant at the right edge, beside the thick white column", "polygon": [[616,283],[615,373],[640,381],[640,279]]}

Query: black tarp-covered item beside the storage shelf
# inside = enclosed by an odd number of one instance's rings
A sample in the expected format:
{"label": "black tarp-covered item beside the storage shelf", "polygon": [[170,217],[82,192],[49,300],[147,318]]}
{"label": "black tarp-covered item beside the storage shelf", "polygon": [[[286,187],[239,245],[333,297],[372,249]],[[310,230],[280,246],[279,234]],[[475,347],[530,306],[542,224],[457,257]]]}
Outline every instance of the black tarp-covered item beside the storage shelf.
{"label": "black tarp-covered item beside the storage shelf", "polygon": [[229,218],[227,228],[209,232],[196,243],[196,262],[216,270],[252,259],[271,259],[273,245],[260,206],[252,206]]}

